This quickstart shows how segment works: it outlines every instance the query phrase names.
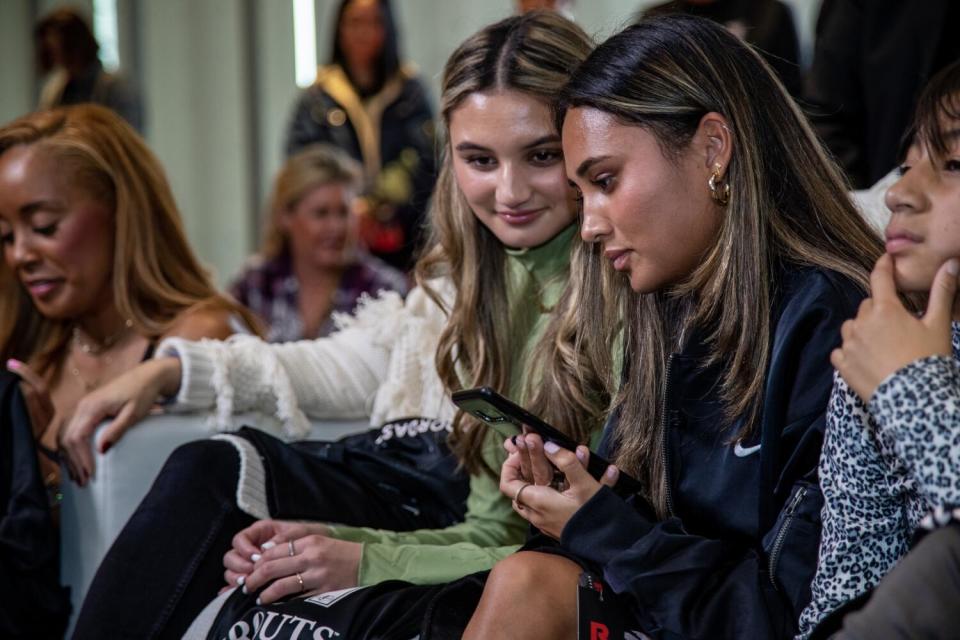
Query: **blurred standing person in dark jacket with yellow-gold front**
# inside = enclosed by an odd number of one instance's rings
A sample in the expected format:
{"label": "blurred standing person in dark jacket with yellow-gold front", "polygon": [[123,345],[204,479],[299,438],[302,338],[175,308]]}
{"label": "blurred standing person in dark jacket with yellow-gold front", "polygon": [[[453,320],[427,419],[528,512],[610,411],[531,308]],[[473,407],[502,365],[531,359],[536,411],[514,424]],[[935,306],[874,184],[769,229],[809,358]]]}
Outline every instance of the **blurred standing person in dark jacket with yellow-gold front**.
{"label": "blurred standing person in dark jacket with yellow-gold front", "polygon": [[433,190],[433,112],[411,65],[400,63],[387,0],[343,0],[330,64],[297,102],[287,154],[323,142],[363,165],[360,235],[404,271],[413,264]]}

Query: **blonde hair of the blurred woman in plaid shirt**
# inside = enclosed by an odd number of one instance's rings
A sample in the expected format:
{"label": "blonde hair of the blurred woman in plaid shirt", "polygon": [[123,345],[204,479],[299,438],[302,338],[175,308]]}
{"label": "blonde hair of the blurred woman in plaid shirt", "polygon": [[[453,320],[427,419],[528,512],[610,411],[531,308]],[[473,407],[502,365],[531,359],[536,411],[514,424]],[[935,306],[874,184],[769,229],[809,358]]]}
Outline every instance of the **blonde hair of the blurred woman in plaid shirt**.
{"label": "blonde hair of the blurred woman in plaid shirt", "polygon": [[260,254],[270,260],[289,251],[281,218],[295,209],[307,193],[328,184],[342,184],[355,191],[362,175],[360,163],[329,145],[311,145],[291,156],[273,181]]}

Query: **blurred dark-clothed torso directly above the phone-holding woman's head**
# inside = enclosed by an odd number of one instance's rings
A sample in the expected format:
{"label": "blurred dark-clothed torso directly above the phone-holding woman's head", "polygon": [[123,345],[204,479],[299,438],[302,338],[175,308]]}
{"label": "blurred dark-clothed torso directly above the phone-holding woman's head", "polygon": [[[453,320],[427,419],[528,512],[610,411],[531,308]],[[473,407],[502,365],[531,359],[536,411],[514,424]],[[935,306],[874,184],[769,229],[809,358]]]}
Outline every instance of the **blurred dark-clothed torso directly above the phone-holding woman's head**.
{"label": "blurred dark-clothed torso directly above the phone-holding woman's head", "polygon": [[670,0],[650,7],[642,16],[668,13],[688,13],[724,25],[759,49],[790,95],[800,95],[797,29],[790,8],[780,0]]}

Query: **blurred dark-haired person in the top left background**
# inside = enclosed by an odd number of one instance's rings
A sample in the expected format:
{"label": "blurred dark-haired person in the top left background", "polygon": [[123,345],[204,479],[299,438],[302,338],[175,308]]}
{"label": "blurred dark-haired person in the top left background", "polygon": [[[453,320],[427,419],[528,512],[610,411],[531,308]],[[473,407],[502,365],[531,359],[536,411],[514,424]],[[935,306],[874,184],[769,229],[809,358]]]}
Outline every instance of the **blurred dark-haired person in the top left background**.
{"label": "blurred dark-haired person in the top left background", "polygon": [[34,27],[33,42],[37,67],[47,78],[39,108],[95,102],[143,131],[139,92],[122,76],[104,70],[97,57],[100,45],[79,10],[63,7],[48,13]]}

